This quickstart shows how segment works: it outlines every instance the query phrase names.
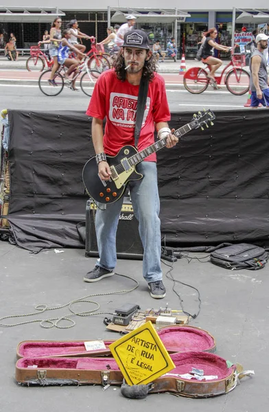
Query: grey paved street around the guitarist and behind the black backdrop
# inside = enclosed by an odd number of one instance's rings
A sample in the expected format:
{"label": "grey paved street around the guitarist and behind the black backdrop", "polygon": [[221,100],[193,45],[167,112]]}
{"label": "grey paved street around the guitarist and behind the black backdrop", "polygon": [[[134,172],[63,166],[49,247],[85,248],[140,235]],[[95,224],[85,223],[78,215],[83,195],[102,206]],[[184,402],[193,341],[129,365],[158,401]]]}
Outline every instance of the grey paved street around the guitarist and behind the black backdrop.
{"label": "grey paved street around the guitarist and behind the black backdrop", "polygon": [[[180,64],[180,63],[179,63]],[[178,63],[175,63],[179,67]],[[188,62],[187,62],[188,65]],[[190,65],[190,63],[189,63]],[[8,66],[8,65],[5,65]],[[166,66],[168,67],[168,65]],[[212,110],[240,110],[248,95],[235,96],[224,87],[221,91],[208,89],[201,95],[191,95],[182,87],[183,76],[178,76],[175,66],[162,73],[165,78],[171,111],[194,113],[202,108]],[[169,69],[169,67],[168,67]],[[167,69],[167,70],[168,70]],[[65,88],[55,98],[49,98],[38,88],[37,74],[19,69],[10,70],[0,62],[1,107],[23,110],[86,111],[89,98],[79,91]],[[13,79],[13,80],[12,80]],[[23,82],[24,79],[24,82]],[[27,84],[25,84],[25,82]],[[190,115],[191,115],[190,113]],[[113,312],[125,303],[140,304],[141,308],[159,308],[169,304],[180,309],[178,297],[172,290],[167,266],[163,264],[167,297],[154,301],[142,277],[142,262],[119,260],[117,273],[127,274],[139,282],[139,288],[130,294],[102,295],[129,289],[133,283],[119,276],[95,284],[82,281],[84,274],[95,264],[94,258],[85,258],[83,249],[62,249],[38,254],[19,249],[8,242],[0,241],[0,317],[34,312],[37,304],[56,307],[73,299],[91,294],[100,294],[92,299],[100,303],[100,311]],[[192,258],[197,256],[189,254]],[[199,254],[198,257],[205,255]],[[93,317],[74,317],[75,327],[70,329],[45,329],[40,324],[30,323],[14,328],[0,326],[1,342],[1,397],[2,412],[156,412],[180,409],[185,412],[259,412],[268,410],[268,340],[269,312],[268,286],[269,263],[261,271],[228,271],[214,266],[204,259],[188,262],[182,258],[174,264],[174,278],[197,288],[201,297],[201,311],[191,325],[208,330],[215,337],[217,354],[229,361],[242,363],[244,369],[254,369],[253,378],[245,378],[242,385],[229,394],[209,399],[176,397],[167,393],[152,394],[144,400],[129,400],[121,396],[119,387],[21,387],[14,381],[16,345],[23,340],[94,340],[117,339],[117,333],[106,330],[103,319],[106,314]],[[197,314],[199,308],[196,290],[176,285],[183,299],[185,310]],[[80,303],[75,311],[90,310],[93,304]],[[38,314],[34,319],[49,319],[69,312],[68,308]],[[29,319],[29,318],[28,318]],[[25,321],[23,318],[5,319],[3,323]],[[30,317],[32,320],[32,317]],[[0,321],[1,322],[1,321]]]}

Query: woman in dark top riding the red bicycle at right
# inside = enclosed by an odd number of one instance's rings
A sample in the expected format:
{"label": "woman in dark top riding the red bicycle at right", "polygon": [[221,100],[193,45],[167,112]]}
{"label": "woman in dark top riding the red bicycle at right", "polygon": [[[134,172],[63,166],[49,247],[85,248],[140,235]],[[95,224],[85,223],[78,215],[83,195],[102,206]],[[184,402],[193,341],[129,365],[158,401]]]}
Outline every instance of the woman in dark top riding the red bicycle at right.
{"label": "woman in dark top riding the red bicycle at right", "polygon": [[[219,58],[215,58],[212,56],[212,49],[215,48],[218,50],[224,50],[224,52],[229,52],[231,47],[226,47],[226,46],[219,45],[218,43],[215,43],[215,38],[217,38],[218,36],[218,30],[215,27],[212,27],[211,29],[209,29],[208,32],[204,33],[204,36],[205,36],[205,41],[202,46],[202,55],[201,55],[202,59],[201,60],[203,63],[206,63],[207,65],[211,66],[211,71],[209,72],[207,77],[213,80],[215,84],[215,78],[214,78],[215,71],[218,70],[218,68],[222,65],[223,62]],[[214,89],[218,89],[218,88],[219,86],[215,84]]]}

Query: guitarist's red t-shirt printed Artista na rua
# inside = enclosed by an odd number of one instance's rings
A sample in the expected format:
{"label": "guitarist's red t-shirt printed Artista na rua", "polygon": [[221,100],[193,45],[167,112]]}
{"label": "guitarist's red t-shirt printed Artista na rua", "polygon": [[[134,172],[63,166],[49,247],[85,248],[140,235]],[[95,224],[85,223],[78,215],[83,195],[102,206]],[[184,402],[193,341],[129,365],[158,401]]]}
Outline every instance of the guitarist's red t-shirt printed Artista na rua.
{"label": "guitarist's red t-shirt printed Artista na rua", "polygon": [[[127,80],[117,79],[114,69],[104,71],[95,84],[93,95],[86,115],[104,119],[104,151],[115,156],[122,146],[134,146],[134,127],[137,115],[137,96],[139,86],[130,84]],[[143,150],[154,143],[154,122],[168,122],[170,112],[165,93],[165,82],[159,74],[148,87],[138,149]],[[156,154],[145,158],[146,161],[156,161]]]}

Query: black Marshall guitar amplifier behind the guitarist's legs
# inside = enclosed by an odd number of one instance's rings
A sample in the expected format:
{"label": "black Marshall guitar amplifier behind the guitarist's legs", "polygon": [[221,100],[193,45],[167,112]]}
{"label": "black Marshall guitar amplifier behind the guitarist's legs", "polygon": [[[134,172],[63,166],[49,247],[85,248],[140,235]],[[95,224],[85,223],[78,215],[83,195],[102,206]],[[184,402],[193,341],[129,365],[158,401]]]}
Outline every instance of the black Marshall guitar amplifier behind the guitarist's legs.
{"label": "black Marshall guitar amplifier behind the guitarist's legs", "polygon": [[[96,205],[90,200],[86,203],[86,240],[85,256],[99,256],[95,233]],[[128,197],[124,197],[124,203],[119,215],[119,225],[116,236],[117,258],[119,259],[143,259],[143,247],[138,230],[138,221],[134,216],[132,203]]]}

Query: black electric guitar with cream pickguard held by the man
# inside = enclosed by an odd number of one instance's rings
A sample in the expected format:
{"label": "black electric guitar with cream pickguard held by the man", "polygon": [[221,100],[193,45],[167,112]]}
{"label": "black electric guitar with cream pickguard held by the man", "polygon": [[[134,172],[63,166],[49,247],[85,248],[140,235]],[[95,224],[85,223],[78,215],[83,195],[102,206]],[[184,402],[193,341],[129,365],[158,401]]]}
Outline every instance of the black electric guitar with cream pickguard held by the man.
{"label": "black electric guitar with cream pickguard held by the man", "polygon": [[[213,125],[212,120],[215,119],[215,115],[211,110],[204,112],[198,112],[197,115],[191,119],[191,122],[185,124],[185,126],[178,128],[174,135],[181,137],[188,133],[190,130],[201,127],[208,123]],[[202,128],[202,130],[204,130]],[[138,152],[133,146],[124,146],[119,150],[116,156],[106,156],[106,160],[110,165],[111,177],[109,181],[103,181],[98,175],[98,166],[95,157],[91,157],[84,165],[82,171],[82,179],[86,191],[89,196],[93,198],[95,202],[100,203],[114,203],[116,202],[126,189],[126,185],[129,181],[142,179],[143,175],[137,173],[135,165],[143,161],[146,157],[151,155],[157,150],[160,150],[166,146],[166,137],[159,139],[152,145],[148,146]]]}

